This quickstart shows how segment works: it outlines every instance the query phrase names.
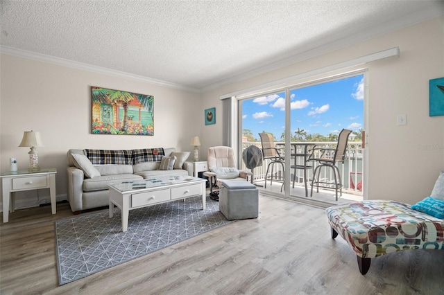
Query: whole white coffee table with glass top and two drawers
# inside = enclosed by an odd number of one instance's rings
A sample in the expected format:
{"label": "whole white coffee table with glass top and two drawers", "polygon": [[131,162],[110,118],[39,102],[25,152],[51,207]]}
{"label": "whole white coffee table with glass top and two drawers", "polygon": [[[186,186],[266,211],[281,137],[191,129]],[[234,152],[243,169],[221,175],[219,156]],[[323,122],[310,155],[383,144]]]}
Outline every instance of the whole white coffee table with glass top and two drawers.
{"label": "whole white coffee table with glass top and two drawers", "polygon": [[110,218],[116,205],[121,210],[122,231],[127,231],[130,210],[195,196],[202,196],[202,208],[205,210],[207,206],[205,181],[198,177],[180,175],[108,184]]}

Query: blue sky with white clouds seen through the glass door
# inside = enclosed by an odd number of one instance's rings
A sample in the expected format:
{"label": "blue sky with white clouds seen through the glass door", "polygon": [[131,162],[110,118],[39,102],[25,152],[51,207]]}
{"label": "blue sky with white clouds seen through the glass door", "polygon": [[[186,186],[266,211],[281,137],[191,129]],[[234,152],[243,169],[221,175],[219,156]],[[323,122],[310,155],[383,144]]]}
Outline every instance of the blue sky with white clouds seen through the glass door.
{"label": "blue sky with white clouds seen through the glass door", "polygon": [[[309,134],[338,134],[342,128],[364,127],[364,75],[294,89],[291,93],[291,134],[298,128]],[[262,131],[279,139],[285,125],[285,93],[242,102],[242,129],[255,138]]]}

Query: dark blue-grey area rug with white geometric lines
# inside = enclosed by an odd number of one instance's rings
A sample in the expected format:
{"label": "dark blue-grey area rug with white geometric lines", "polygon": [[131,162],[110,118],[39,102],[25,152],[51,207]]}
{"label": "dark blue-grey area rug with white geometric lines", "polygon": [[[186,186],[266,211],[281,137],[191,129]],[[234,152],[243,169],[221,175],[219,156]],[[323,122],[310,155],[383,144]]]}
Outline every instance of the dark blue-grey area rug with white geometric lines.
{"label": "dark blue-grey area rug with white geometric lines", "polygon": [[114,208],[112,218],[106,210],[58,220],[54,227],[59,285],[229,223],[219,212],[219,202],[208,197],[206,210],[202,197],[131,210],[125,233],[119,208]]}

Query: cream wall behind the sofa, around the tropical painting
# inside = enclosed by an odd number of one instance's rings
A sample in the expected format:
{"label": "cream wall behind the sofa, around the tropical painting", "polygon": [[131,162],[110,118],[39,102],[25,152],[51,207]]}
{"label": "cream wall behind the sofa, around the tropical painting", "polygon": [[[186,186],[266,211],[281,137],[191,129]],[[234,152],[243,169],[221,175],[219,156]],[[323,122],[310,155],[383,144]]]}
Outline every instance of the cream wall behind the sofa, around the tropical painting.
{"label": "cream wall behind the sofa, around the tropical painting", "polygon": [[[10,157],[17,158],[19,169],[27,169],[29,148],[18,145],[24,131],[39,131],[45,145],[38,148],[40,167],[57,168],[58,199],[66,198],[70,148],[176,147],[191,152],[191,136],[204,122],[196,108],[199,93],[6,54],[1,54],[0,62],[0,170],[9,170]],[[153,95],[154,136],[91,134],[91,86]],[[39,193],[49,195],[46,190]],[[17,193],[18,206],[20,199],[36,199],[36,194]]]}

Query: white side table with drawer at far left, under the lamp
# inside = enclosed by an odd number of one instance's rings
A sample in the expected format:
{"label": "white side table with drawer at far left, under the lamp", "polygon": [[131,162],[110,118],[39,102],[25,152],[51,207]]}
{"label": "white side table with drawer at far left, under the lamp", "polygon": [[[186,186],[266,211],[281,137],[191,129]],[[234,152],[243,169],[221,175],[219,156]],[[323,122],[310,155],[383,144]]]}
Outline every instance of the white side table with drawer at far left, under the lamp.
{"label": "white side table with drawer at far left, under the lamp", "polygon": [[9,211],[14,212],[15,192],[23,190],[49,188],[51,211],[56,214],[56,173],[56,168],[49,168],[39,171],[19,170],[0,175],[3,186],[3,223],[8,222]]}

